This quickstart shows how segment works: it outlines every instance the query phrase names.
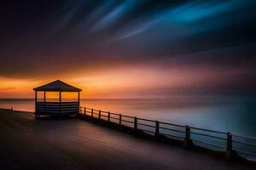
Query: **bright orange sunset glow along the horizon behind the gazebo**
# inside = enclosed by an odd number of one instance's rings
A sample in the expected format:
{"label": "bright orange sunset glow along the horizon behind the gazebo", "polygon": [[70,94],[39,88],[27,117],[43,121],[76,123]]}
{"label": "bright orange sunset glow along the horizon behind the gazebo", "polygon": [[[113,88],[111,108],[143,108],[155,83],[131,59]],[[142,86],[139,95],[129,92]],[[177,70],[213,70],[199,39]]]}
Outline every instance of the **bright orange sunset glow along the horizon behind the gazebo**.
{"label": "bright orange sunset glow along the horizon behind the gazebo", "polygon": [[[147,97],[151,92],[167,89],[175,93],[180,89],[201,88],[220,83],[220,77],[236,77],[241,71],[222,71],[206,67],[135,67],[111,71],[95,71],[90,74],[80,71],[76,75],[56,77],[75,87],[82,88],[81,98],[132,98]],[[51,76],[53,77],[53,76]],[[34,98],[32,88],[55,81],[52,78],[18,79],[0,77],[0,98]],[[63,94],[76,98],[77,94]],[[57,98],[57,94],[47,94]]]}

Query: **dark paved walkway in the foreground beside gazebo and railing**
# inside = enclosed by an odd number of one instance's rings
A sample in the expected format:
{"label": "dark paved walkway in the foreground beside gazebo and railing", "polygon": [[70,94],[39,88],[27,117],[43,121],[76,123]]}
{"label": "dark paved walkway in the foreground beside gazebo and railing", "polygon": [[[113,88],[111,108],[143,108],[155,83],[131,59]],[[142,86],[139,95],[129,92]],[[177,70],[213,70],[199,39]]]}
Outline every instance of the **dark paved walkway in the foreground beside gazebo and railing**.
{"label": "dark paved walkway in the foreground beside gazebo and railing", "polygon": [[0,110],[1,169],[255,169],[79,119],[34,120]]}

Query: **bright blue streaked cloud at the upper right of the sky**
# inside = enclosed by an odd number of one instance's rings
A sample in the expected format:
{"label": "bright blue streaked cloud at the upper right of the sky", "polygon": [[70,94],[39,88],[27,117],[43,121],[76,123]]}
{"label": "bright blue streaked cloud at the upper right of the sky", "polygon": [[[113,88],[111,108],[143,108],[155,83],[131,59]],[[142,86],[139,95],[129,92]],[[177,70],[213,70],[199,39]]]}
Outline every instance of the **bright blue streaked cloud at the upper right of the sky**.
{"label": "bright blue streaked cloud at the upper right of the sky", "polygon": [[[167,8],[131,21],[117,33],[116,40],[129,37],[152,37],[172,40],[219,27],[241,24],[244,17],[229,20],[230,13],[246,8],[250,3],[242,0],[195,1]],[[248,19],[249,20],[249,19]],[[144,35],[143,35],[144,34]],[[161,35],[165,35],[162,37]]]}

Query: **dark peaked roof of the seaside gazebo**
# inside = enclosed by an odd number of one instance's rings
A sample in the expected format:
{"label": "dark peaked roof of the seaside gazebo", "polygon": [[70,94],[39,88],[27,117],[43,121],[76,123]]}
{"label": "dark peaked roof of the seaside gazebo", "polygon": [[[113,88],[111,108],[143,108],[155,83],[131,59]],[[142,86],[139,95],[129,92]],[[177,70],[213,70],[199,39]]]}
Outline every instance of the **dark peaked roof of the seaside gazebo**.
{"label": "dark peaked roof of the seaside gazebo", "polygon": [[80,92],[82,89],[75,88],[66,82],[61,82],[60,80],[56,80],[55,82],[49,82],[43,86],[38,88],[33,88],[36,91],[48,91],[48,92]]}

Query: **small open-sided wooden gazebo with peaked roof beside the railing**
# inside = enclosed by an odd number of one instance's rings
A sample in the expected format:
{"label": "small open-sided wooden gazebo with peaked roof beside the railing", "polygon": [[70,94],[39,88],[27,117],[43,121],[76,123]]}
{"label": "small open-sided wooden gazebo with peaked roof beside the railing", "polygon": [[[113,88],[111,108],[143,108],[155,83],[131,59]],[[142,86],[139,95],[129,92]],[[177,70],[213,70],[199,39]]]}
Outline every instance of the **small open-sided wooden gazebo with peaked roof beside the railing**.
{"label": "small open-sided wooden gazebo with peaked roof beside the railing", "polygon": [[[55,82],[49,82],[38,88],[33,88],[35,91],[35,116],[36,118],[40,115],[48,116],[72,116],[79,113],[80,106],[80,92],[82,89],[75,88],[65,82],[56,80]],[[44,101],[38,101],[38,92],[44,92]],[[48,102],[46,100],[46,92],[58,92],[59,100],[57,102]],[[62,92],[73,92],[78,93],[77,101],[73,102],[62,102]]]}

